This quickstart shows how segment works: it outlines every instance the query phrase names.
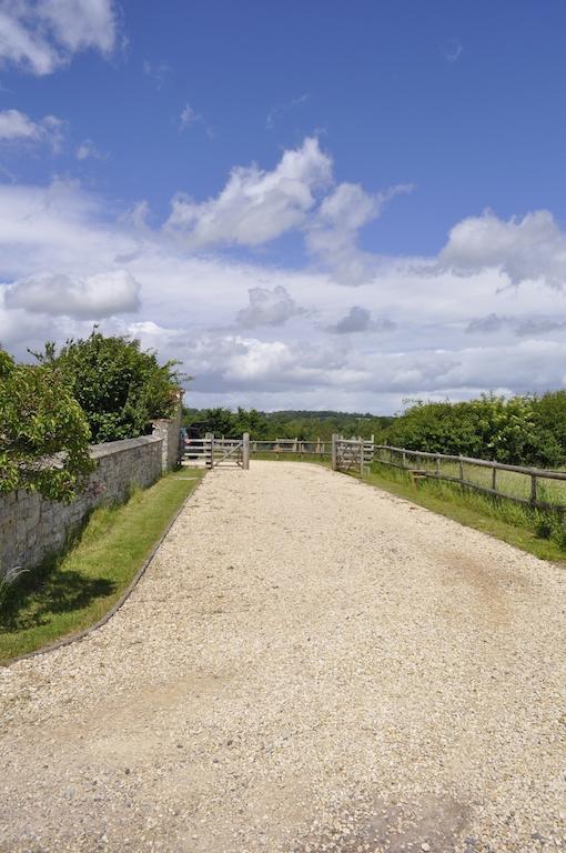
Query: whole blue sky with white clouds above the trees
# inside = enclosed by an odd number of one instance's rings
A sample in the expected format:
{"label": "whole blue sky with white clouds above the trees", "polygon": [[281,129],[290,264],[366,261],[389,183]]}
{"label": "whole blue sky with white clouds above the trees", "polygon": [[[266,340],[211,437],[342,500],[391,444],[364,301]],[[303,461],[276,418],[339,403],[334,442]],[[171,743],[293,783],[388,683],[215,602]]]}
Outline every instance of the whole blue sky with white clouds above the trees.
{"label": "whole blue sky with white clouds above the trees", "polygon": [[564,387],[566,7],[0,0],[0,340],[199,404]]}

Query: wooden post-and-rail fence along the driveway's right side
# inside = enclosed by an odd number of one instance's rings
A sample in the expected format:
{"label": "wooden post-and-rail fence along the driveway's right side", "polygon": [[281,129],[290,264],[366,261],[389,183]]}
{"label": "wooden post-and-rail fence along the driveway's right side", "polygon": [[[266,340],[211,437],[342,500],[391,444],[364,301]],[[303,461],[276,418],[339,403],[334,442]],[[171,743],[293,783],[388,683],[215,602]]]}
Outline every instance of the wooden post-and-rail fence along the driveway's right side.
{"label": "wooden post-and-rail fence along the driveway's right side", "polygon": [[508,465],[495,460],[428,453],[388,444],[374,445],[374,461],[403,469],[416,478],[445,480],[533,509],[566,511],[564,471]]}

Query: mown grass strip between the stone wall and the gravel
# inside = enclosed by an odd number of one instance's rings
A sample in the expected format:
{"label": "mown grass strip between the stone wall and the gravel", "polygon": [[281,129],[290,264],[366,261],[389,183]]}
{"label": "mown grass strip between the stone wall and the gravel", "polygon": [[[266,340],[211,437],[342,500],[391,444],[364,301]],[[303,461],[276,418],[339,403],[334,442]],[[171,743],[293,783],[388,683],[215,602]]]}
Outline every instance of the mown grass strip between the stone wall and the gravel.
{"label": "mown grass strip between the stone wall and the gravel", "polygon": [[122,505],[94,510],[64,555],[23,574],[0,614],[0,664],[108,613],[203,474],[185,468]]}

